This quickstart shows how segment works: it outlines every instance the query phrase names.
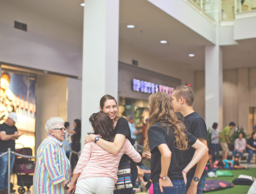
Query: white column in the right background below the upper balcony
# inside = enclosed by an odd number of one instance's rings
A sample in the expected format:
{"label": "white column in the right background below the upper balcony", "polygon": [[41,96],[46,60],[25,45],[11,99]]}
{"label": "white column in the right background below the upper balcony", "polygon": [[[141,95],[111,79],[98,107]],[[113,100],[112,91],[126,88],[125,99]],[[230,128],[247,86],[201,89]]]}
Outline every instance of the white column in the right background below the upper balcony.
{"label": "white column in the right background below the upper balcony", "polygon": [[205,123],[207,128],[214,122],[222,129],[222,51],[219,45],[205,48]]}

